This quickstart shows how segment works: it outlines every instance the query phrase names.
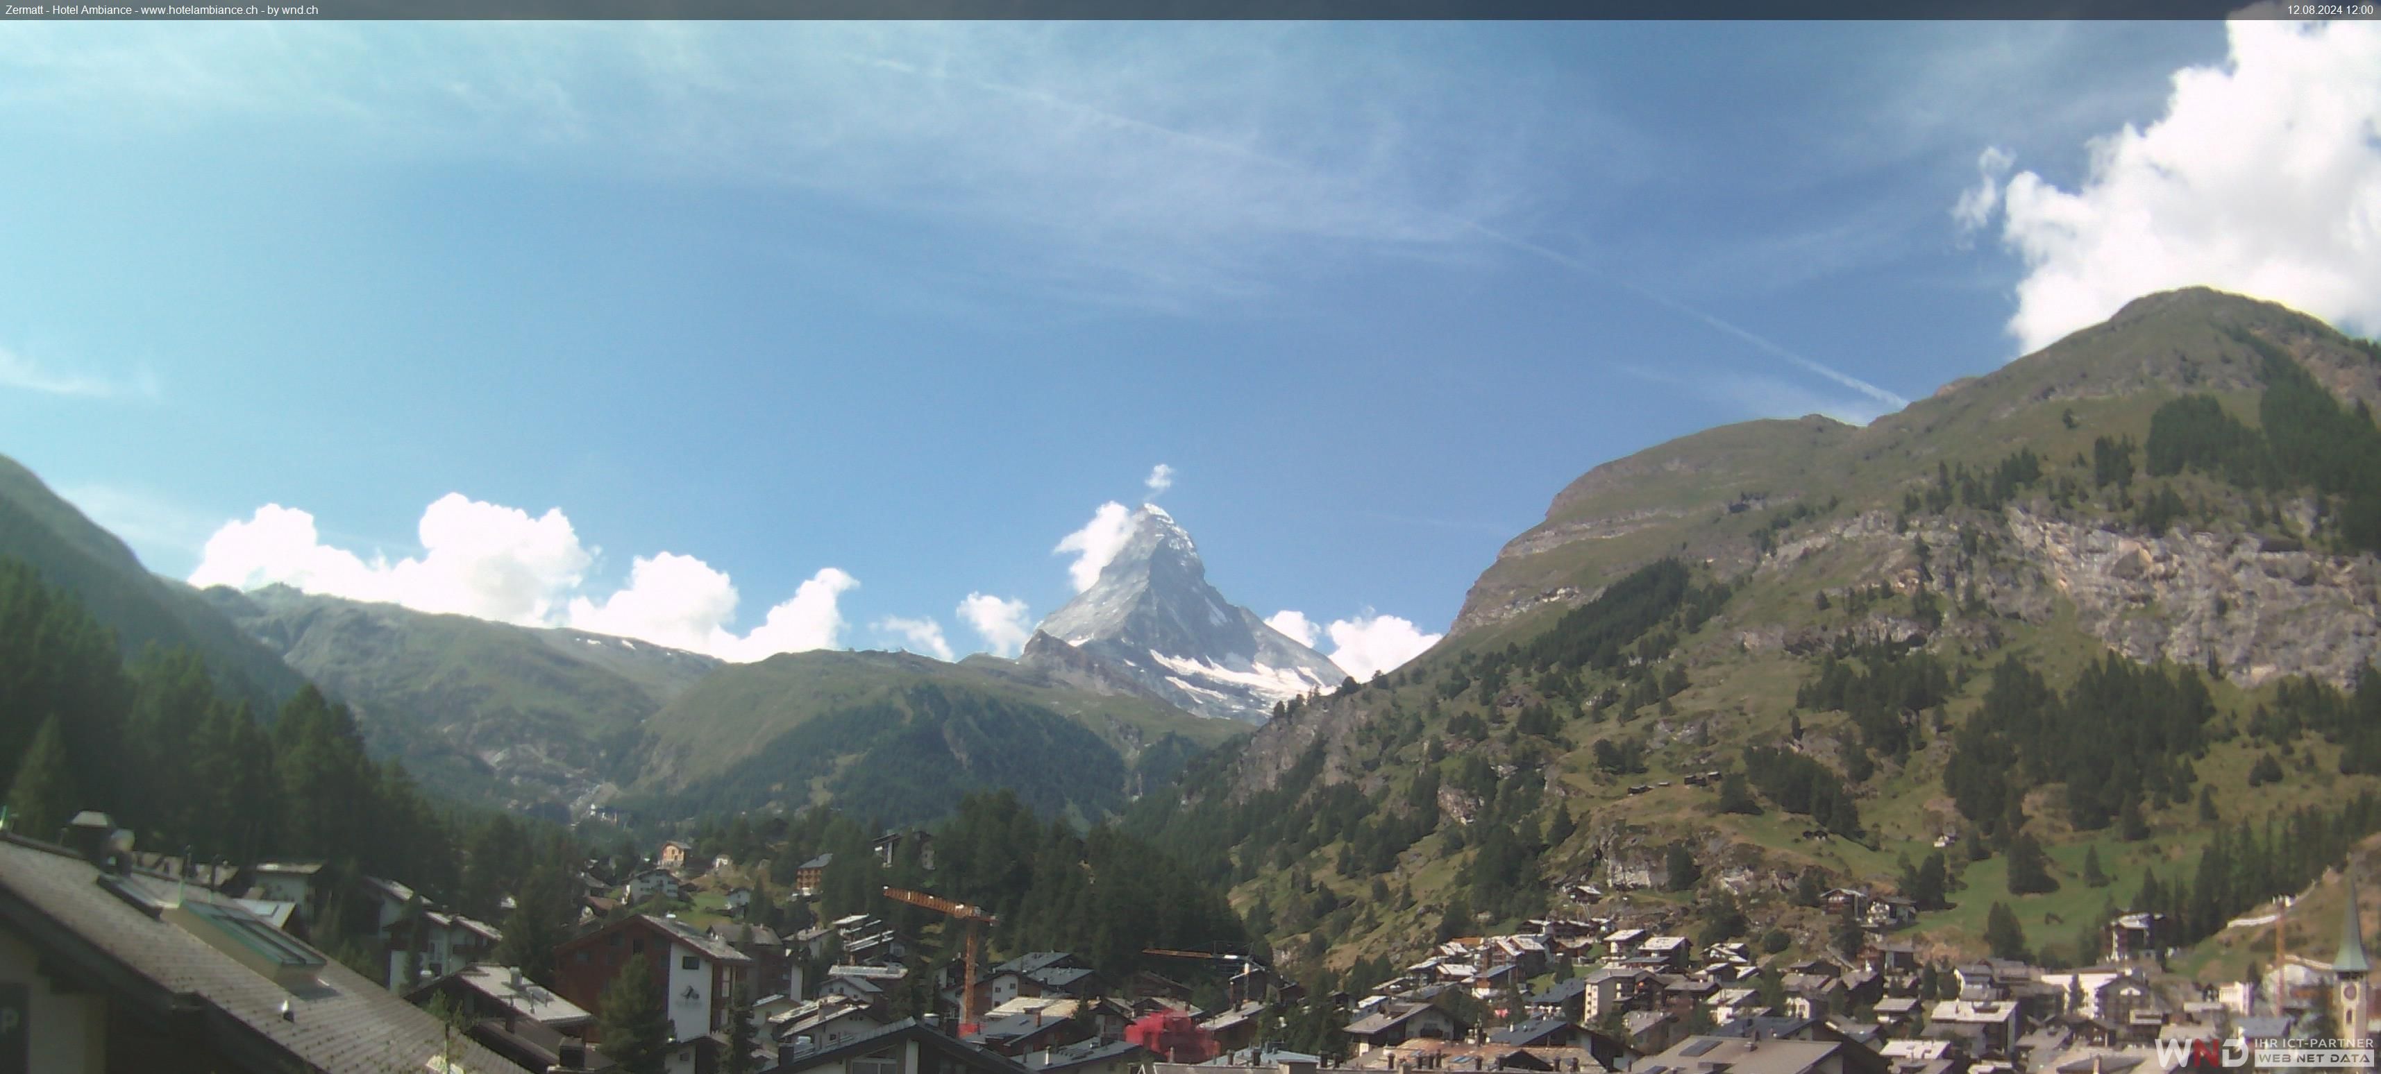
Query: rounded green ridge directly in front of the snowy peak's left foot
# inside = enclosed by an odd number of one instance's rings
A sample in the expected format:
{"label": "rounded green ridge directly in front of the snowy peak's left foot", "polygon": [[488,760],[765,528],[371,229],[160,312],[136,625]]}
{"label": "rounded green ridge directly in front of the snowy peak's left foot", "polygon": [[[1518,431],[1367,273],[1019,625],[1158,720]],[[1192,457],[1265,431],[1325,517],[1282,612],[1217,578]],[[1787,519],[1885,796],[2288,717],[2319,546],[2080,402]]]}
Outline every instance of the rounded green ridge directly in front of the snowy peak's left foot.
{"label": "rounded green ridge directly in front of the snowy peak's left foot", "polygon": [[1036,810],[1095,819],[1243,731],[1005,660],[788,652],[721,667],[657,712],[636,791],[671,814],[831,803],[912,822],[967,791],[1014,788]]}

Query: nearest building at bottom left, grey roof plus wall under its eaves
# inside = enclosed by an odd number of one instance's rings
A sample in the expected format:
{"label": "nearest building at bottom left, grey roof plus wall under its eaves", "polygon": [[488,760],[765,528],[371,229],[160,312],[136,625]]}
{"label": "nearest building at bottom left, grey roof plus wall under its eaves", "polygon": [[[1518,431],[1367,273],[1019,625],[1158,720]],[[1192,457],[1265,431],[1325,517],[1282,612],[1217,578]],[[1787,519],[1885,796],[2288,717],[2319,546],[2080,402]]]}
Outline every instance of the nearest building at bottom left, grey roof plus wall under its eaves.
{"label": "nearest building at bottom left, grey roof plus wall under its eaves", "polygon": [[519,1072],[238,903],[129,872],[105,814],[69,838],[0,836],[0,1067]]}

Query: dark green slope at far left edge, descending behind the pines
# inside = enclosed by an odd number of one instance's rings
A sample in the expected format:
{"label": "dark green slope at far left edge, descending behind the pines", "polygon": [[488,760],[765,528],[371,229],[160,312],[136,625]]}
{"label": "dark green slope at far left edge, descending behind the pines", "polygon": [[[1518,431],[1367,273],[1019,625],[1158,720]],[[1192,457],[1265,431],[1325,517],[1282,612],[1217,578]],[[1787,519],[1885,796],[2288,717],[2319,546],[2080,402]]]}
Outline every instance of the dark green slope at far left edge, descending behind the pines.
{"label": "dark green slope at far left edge, descending behind the pines", "polygon": [[60,500],[31,469],[0,457],[0,555],[33,564],[117,631],[126,655],[148,645],[190,648],[224,688],[262,712],[298,693],[300,679],[200,600],[198,591],[140,567],[131,548]]}

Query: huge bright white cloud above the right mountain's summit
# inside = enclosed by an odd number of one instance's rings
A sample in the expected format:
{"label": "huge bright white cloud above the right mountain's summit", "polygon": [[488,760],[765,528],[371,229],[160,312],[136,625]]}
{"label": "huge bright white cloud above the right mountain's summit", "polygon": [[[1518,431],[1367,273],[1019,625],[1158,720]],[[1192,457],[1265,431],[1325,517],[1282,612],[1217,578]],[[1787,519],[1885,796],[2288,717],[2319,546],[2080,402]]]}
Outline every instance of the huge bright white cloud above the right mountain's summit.
{"label": "huge bright white cloud above the right mountain's summit", "polygon": [[[2381,329],[2381,24],[2241,19],[2229,38],[2221,67],[2174,74],[2162,119],[2093,141],[2074,191],[2033,171],[2000,191],[2021,350],[2193,283]],[[1955,207],[1991,212],[1983,191]]]}

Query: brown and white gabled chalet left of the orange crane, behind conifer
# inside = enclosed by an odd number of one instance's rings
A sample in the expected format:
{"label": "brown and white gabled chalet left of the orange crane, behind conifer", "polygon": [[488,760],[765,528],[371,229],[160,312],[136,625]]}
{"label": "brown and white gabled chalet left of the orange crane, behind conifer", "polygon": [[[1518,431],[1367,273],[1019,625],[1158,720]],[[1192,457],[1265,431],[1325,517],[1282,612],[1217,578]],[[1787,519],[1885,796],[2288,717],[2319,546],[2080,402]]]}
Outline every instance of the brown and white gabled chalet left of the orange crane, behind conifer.
{"label": "brown and white gabled chalet left of the orange crane, behind conifer", "polygon": [[752,960],[693,926],[652,914],[624,917],[555,948],[557,993],[602,1014],[602,991],[629,960],[645,955],[669,1026],[693,1041],[726,1026],[729,998],[750,988]]}

